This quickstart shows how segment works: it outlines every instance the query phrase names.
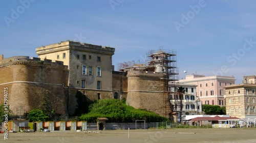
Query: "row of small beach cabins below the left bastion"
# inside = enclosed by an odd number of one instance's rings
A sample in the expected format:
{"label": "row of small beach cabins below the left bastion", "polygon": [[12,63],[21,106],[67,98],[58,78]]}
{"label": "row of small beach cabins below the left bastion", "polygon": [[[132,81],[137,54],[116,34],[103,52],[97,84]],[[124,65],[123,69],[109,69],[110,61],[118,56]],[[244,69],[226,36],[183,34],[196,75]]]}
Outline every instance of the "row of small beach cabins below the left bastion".
{"label": "row of small beach cabins below the left bastion", "polygon": [[[4,129],[4,123],[2,124],[2,130]],[[41,129],[49,129],[50,131],[65,131],[65,130],[87,130],[86,121],[48,121],[48,122],[29,122],[13,120],[8,122],[8,131],[20,131],[20,130],[34,130],[40,131]]]}

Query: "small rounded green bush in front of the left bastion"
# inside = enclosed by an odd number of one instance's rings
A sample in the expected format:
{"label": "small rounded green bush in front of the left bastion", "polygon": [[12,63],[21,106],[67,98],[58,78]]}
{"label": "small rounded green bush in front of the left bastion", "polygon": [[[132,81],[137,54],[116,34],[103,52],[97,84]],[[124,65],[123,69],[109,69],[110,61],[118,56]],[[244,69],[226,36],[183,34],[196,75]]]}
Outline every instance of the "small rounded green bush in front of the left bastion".
{"label": "small rounded green bush in front of the left bastion", "polygon": [[46,121],[48,119],[48,116],[40,109],[33,109],[29,111],[28,119],[29,122]]}

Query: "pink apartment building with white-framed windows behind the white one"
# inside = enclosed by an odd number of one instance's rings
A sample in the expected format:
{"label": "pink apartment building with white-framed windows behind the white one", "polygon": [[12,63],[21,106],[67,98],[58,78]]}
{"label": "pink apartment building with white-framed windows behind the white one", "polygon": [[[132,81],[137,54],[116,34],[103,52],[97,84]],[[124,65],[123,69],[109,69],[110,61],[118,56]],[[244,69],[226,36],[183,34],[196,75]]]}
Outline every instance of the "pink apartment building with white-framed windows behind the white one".
{"label": "pink apartment building with white-framed windows behind the white one", "polygon": [[205,75],[186,75],[186,79],[179,80],[180,83],[197,85],[197,98],[202,104],[225,106],[225,87],[234,84],[233,76],[205,76]]}

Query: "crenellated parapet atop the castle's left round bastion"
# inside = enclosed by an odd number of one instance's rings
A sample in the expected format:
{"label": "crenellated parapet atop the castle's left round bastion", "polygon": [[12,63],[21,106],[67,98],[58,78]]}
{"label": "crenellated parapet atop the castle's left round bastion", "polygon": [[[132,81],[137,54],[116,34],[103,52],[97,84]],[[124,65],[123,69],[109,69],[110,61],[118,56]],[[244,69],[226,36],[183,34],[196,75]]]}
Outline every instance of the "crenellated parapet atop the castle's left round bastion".
{"label": "crenellated parapet atop the castle's left round bastion", "polygon": [[52,61],[35,57],[29,58],[29,56],[12,56],[11,58],[6,58],[0,61],[0,67],[10,65],[32,65],[40,67],[68,69],[68,66],[63,65],[63,62],[61,61]]}

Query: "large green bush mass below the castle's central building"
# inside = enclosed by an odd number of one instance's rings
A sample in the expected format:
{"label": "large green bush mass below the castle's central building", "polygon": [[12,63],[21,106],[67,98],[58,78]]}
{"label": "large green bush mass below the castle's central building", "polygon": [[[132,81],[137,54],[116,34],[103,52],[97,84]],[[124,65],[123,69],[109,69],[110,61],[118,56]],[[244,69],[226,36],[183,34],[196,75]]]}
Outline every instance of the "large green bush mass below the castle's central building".
{"label": "large green bush mass below the castle's central building", "polygon": [[135,122],[135,120],[162,122],[167,120],[152,111],[135,109],[118,99],[98,100],[89,106],[89,113],[82,115],[79,120],[96,122],[99,117],[108,118],[109,122]]}

